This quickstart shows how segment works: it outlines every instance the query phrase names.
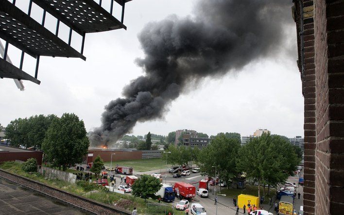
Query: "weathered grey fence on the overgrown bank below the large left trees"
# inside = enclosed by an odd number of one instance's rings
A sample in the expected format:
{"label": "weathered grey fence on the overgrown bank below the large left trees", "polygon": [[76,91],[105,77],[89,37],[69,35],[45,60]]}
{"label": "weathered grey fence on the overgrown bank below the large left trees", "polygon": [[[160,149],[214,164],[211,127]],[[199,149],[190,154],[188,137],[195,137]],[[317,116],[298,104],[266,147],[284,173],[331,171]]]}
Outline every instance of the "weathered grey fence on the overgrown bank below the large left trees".
{"label": "weathered grey fence on the overgrown bank below the large left trees", "polygon": [[37,172],[48,179],[58,179],[70,183],[75,183],[76,180],[76,175],[72,173],[64,172],[46,166],[37,165]]}

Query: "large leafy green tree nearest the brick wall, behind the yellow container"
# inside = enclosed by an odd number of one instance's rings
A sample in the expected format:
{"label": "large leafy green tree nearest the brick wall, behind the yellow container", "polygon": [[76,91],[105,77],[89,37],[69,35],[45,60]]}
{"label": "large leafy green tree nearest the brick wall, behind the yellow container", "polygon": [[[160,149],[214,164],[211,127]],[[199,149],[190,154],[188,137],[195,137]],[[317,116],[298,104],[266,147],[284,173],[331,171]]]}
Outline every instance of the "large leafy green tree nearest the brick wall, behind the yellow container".
{"label": "large leafy green tree nearest the brick wall, behind the yellow container", "polygon": [[241,148],[239,154],[239,169],[258,182],[259,199],[262,184],[276,185],[285,182],[289,175],[293,175],[300,161],[289,141],[269,133],[252,138]]}

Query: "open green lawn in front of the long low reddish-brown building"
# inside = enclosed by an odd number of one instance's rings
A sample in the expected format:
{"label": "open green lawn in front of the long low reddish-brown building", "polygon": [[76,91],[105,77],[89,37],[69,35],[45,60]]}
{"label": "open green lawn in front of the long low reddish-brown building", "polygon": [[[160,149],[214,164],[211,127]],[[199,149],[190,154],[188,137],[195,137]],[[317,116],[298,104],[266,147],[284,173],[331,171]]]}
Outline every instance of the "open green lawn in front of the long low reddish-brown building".
{"label": "open green lawn in front of the long low reddish-brown building", "polygon": [[[104,162],[105,166],[110,166],[110,162]],[[161,171],[166,171],[166,161],[162,158],[151,158],[151,159],[142,159],[142,160],[130,160],[130,161],[113,161],[112,166],[123,165],[133,167],[135,171],[146,172],[157,170],[161,168]],[[170,165],[167,164],[167,168],[170,168]]]}

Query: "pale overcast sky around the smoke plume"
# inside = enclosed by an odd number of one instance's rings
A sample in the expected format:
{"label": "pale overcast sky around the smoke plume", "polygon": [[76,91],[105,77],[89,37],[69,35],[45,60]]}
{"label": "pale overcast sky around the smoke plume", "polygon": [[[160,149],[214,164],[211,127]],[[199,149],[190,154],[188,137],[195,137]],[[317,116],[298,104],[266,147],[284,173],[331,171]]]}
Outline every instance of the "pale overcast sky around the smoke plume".
{"label": "pale overcast sky around the smoke plume", "polygon": [[[104,106],[121,97],[122,88],[143,74],[134,62],[143,57],[138,33],[148,22],[171,14],[191,16],[195,2],[133,0],[125,7],[127,31],[86,34],[86,62],[41,57],[38,72],[41,84],[24,81],[24,92],[17,89],[13,80],[1,79],[0,123],[7,125],[18,117],[61,116],[68,112],[84,120],[87,131],[100,126]],[[26,1],[19,1],[18,7],[26,12]],[[115,11],[119,17],[120,9]],[[33,17],[40,20],[41,14],[34,6]],[[48,16],[48,29],[54,31],[54,25],[55,19]],[[273,58],[259,59],[241,71],[215,79],[205,78],[198,85],[191,85],[187,93],[172,102],[163,119],[138,123],[133,134],[167,135],[177,129],[192,129],[209,135],[218,132],[249,135],[261,128],[288,137],[303,136],[303,98],[296,66],[295,25],[285,26],[285,33],[288,38],[285,51]],[[61,25],[60,35],[67,41],[66,26]],[[80,50],[80,41],[81,37],[74,33],[72,45],[77,50]],[[13,46],[10,46],[9,57],[19,65],[20,51]],[[23,70],[33,76],[34,64],[34,58],[25,55]]]}

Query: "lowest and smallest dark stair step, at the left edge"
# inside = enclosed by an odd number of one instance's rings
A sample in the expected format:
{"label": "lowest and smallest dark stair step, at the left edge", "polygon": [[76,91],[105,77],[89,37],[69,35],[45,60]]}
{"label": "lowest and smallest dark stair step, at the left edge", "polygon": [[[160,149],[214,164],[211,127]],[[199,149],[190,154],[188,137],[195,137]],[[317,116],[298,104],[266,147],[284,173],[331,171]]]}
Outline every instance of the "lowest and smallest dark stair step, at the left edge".
{"label": "lowest and smallest dark stair step, at the left edge", "polygon": [[0,78],[11,78],[18,80],[28,80],[33,83],[40,84],[41,82],[29,75],[28,73],[22,71],[21,69],[13,66],[4,59],[0,58]]}

